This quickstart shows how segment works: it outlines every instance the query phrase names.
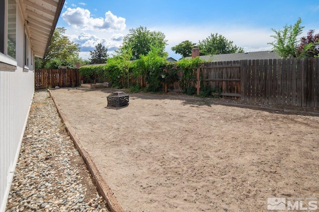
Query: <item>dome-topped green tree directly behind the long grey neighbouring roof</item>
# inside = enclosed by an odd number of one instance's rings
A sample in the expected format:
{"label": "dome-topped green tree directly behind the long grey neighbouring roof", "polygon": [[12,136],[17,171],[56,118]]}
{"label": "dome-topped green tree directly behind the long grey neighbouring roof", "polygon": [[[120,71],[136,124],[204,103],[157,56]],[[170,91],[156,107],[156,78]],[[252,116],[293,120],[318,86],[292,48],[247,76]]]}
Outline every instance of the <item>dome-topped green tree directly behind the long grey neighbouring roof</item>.
{"label": "dome-topped green tree directly behind the long grey neighbouring roof", "polygon": [[210,34],[206,39],[199,41],[200,55],[230,54],[244,52],[244,49],[233,45],[233,41],[227,40],[218,33]]}

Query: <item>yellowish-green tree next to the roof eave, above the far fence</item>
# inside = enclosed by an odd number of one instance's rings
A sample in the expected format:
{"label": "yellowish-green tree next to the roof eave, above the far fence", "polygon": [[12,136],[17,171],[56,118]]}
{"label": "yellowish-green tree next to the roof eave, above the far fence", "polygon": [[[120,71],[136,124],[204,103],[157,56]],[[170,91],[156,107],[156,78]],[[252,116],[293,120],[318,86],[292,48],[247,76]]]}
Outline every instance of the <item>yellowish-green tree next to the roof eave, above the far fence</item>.
{"label": "yellowish-green tree next to the roof eave, above the far fence", "polygon": [[[53,59],[59,60],[61,66],[74,67],[75,62],[80,60],[79,44],[70,41],[70,39],[64,35],[65,30],[64,27],[55,28],[48,50],[43,59],[36,59],[35,68],[47,67],[46,64]],[[52,64],[56,64],[56,62],[52,62]]]}

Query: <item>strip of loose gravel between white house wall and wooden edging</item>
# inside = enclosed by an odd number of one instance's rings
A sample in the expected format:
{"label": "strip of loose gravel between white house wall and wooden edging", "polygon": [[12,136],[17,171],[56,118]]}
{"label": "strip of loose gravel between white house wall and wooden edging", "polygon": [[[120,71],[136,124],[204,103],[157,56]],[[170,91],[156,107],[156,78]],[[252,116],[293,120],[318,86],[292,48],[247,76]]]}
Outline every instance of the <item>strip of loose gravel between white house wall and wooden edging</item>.
{"label": "strip of loose gravel between white house wall and wooden edging", "polygon": [[107,212],[47,91],[34,93],[6,212]]}

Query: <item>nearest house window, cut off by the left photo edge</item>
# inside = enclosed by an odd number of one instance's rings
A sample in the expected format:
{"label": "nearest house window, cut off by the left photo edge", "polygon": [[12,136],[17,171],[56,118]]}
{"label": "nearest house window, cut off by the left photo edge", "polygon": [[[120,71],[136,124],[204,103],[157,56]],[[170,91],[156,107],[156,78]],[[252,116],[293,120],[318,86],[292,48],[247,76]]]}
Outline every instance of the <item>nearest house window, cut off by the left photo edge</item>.
{"label": "nearest house window, cut off by the left photo edge", "polygon": [[16,58],[15,0],[0,0],[0,52]]}

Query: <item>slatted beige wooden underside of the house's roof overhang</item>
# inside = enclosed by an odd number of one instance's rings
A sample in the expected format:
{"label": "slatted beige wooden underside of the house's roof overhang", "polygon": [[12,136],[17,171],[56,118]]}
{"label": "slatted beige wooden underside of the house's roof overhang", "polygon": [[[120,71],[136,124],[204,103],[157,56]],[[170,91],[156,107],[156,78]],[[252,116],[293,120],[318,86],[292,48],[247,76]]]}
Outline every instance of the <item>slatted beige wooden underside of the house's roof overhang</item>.
{"label": "slatted beige wooden underside of the house's roof overhang", "polygon": [[43,58],[65,0],[23,0],[22,15],[34,55]]}

